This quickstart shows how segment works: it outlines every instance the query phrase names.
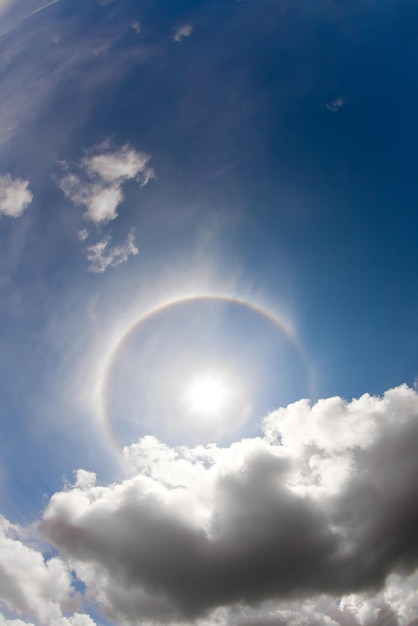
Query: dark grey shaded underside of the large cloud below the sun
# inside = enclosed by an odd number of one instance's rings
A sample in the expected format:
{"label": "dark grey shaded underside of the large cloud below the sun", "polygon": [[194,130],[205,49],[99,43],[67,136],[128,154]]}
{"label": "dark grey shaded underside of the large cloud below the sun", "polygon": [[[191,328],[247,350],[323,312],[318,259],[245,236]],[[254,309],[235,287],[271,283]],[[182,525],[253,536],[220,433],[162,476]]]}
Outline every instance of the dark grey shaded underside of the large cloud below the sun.
{"label": "dark grey shaded underside of the large cloud below the sun", "polygon": [[[418,565],[417,446],[417,416],[395,422],[355,451],[338,495],[317,503],[286,486],[290,460],[259,452],[217,481],[209,536],[134,487],[107,515],[53,517],[43,530],[64,554],[111,573],[122,615],[192,619],[235,603],[378,590]],[[136,607],[120,595],[134,588]]]}

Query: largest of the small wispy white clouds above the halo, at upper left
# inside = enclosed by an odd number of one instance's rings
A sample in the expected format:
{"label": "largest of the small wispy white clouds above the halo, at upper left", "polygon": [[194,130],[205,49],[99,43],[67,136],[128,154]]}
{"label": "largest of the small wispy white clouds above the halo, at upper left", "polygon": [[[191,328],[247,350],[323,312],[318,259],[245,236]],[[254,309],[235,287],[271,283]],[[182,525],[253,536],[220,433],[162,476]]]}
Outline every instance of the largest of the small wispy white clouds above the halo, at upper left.
{"label": "largest of the small wispy white clouds above the halo, at upper left", "polygon": [[74,168],[64,164],[59,186],[74,204],[87,208],[86,219],[106,224],[118,216],[125,182],[134,179],[143,186],[154,177],[150,158],[129,145],[112,151],[104,144],[89,151]]}

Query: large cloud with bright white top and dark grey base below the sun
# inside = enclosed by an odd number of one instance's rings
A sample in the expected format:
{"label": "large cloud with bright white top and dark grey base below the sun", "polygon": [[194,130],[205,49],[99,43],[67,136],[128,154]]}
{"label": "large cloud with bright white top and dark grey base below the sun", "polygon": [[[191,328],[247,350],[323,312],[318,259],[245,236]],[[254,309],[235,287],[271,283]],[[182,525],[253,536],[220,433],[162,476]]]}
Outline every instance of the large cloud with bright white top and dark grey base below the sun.
{"label": "large cloud with bright white top and dark grey base below the sun", "polygon": [[127,447],[42,529],[119,624],[418,623],[418,394],[329,398],[231,446]]}

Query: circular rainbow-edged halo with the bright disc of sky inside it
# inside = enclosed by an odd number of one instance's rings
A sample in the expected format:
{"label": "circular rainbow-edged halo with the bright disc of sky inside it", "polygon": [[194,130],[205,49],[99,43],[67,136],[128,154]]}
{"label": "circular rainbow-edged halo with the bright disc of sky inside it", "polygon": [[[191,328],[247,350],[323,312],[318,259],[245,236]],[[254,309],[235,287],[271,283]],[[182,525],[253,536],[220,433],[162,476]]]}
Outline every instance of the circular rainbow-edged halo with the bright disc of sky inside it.
{"label": "circular rainbow-edged halo with the bright disc of sky inside it", "polygon": [[223,445],[306,386],[303,351],[279,318],[229,296],[190,296],[150,308],[121,335],[100,407],[118,450],[146,434]]}

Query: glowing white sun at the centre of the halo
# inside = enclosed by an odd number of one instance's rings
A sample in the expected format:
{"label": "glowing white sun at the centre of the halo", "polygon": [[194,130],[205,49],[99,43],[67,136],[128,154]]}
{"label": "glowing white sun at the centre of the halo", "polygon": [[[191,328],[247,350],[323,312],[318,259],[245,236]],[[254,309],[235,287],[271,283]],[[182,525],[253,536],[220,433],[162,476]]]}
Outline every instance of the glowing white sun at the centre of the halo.
{"label": "glowing white sun at the centre of the halo", "polygon": [[226,407],[227,385],[213,374],[196,376],[186,386],[184,400],[193,413],[215,415]]}

